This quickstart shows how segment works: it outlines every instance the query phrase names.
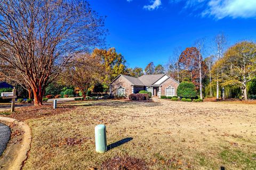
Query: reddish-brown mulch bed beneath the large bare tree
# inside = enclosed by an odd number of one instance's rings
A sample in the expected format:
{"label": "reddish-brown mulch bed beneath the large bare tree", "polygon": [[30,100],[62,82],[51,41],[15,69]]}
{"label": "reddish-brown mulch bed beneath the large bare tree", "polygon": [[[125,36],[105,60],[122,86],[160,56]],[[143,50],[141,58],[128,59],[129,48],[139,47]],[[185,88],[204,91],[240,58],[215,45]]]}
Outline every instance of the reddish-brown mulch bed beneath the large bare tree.
{"label": "reddish-brown mulch bed beneath the large bare tree", "polygon": [[20,121],[26,121],[31,118],[40,118],[61,114],[63,112],[70,111],[73,106],[58,106],[57,109],[53,109],[52,105],[43,106],[25,106],[15,109],[15,112],[10,115],[1,115],[3,117],[11,117]]}

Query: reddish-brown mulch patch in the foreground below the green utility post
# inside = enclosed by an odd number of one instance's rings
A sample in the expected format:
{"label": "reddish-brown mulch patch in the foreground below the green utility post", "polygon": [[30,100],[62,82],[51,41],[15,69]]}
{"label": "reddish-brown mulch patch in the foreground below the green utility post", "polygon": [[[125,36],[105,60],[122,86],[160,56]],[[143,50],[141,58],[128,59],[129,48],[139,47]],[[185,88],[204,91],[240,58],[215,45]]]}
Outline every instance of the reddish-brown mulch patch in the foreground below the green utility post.
{"label": "reddish-brown mulch patch in the foreground below the green utility post", "polygon": [[145,161],[133,157],[119,157],[108,159],[101,165],[101,170],[148,170]]}

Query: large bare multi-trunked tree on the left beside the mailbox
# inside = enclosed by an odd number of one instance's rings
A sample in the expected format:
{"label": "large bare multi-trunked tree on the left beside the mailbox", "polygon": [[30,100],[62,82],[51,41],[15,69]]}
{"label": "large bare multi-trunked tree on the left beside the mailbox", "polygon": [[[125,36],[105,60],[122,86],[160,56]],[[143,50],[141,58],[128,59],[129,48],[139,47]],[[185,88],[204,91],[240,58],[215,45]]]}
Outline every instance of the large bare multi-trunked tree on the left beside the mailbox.
{"label": "large bare multi-trunked tree on the left beside the mailbox", "polygon": [[1,0],[0,58],[42,105],[45,88],[69,59],[99,45],[103,20],[86,1]]}

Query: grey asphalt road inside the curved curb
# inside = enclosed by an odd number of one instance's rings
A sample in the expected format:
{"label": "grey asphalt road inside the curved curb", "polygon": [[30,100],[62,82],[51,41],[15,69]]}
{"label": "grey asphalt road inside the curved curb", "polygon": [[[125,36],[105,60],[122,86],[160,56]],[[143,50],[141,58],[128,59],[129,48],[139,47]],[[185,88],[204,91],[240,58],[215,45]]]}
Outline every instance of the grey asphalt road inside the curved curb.
{"label": "grey asphalt road inside the curved curb", "polygon": [[11,130],[9,126],[6,126],[3,123],[0,123],[0,156],[3,154],[7,143],[10,139]]}

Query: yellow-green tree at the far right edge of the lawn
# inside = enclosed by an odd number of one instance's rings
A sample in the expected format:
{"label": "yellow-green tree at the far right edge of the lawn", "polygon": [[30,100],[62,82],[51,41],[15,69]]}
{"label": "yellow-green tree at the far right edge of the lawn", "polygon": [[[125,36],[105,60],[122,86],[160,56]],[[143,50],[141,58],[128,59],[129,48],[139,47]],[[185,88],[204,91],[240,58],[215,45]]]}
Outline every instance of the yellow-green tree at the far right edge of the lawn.
{"label": "yellow-green tree at the far right edge of the lawn", "polygon": [[214,65],[222,70],[223,86],[240,87],[247,100],[247,83],[256,77],[256,44],[243,41],[230,47],[223,58]]}

